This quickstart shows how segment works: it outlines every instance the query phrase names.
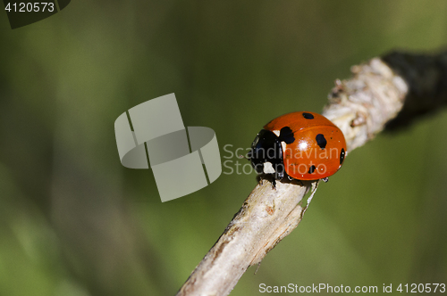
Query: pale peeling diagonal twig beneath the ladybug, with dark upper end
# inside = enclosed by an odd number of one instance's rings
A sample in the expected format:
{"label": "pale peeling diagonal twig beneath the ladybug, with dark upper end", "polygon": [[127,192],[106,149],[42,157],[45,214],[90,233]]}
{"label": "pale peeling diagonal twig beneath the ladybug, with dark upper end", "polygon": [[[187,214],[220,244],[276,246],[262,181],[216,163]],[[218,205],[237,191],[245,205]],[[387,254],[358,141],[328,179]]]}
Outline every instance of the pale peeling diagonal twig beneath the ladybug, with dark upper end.
{"label": "pale peeling diagonal twig beneath the ladybug, with dark upper end", "polygon": [[[394,121],[393,127],[447,103],[446,53],[391,53],[351,71],[353,78],[335,82],[323,112],[342,129],[349,152],[384,130],[401,110],[404,116],[396,120],[403,119]],[[424,105],[424,112],[417,103]],[[258,184],[177,295],[228,295],[248,267],[264,259],[298,226],[307,206],[303,197],[311,185],[277,182],[273,189],[270,182]]]}

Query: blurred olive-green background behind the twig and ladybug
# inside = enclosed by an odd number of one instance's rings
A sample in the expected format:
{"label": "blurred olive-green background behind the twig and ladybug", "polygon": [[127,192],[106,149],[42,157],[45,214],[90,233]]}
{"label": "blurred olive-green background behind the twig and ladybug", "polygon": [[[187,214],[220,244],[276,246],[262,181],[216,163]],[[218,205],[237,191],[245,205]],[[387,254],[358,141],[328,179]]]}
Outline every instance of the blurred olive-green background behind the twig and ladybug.
{"label": "blurred olive-green background behind the twig and ladybug", "polygon": [[[322,111],[350,66],[442,49],[446,15],[445,0],[72,1],[12,30],[0,12],[0,295],[173,295],[256,175],[224,168],[162,203],[151,170],[120,164],[114,119],[175,93],[229,157],[276,116]],[[232,295],[446,283],[446,133],[440,111],[351,152]]]}

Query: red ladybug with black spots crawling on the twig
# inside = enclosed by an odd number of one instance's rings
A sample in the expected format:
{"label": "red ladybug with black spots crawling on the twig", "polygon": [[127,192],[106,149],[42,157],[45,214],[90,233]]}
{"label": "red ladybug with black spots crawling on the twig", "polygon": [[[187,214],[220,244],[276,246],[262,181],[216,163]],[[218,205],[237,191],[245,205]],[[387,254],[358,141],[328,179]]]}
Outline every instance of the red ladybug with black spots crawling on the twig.
{"label": "red ladybug with black spots crawling on the twig", "polygon": [[273,119],[257,134],[248,159],[275,180],[319,180],[342,167],[347,156],[342,130],[323,115],[291,112]]}

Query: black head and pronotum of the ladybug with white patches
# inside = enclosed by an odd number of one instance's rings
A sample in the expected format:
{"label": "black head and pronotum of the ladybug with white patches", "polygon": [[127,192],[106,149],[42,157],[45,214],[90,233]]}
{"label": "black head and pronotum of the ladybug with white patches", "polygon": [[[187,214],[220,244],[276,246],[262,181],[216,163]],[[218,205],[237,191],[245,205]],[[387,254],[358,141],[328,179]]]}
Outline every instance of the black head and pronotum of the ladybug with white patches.
{"label": "black head and pronotum of the ladybug with white patches", "polygon": [[274,175],[277,180],[283,179],[283,148],[274,132],[262,129],[251,144],[248,156],[257,174]]}

